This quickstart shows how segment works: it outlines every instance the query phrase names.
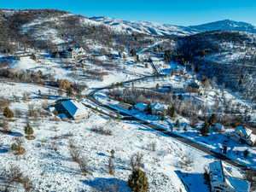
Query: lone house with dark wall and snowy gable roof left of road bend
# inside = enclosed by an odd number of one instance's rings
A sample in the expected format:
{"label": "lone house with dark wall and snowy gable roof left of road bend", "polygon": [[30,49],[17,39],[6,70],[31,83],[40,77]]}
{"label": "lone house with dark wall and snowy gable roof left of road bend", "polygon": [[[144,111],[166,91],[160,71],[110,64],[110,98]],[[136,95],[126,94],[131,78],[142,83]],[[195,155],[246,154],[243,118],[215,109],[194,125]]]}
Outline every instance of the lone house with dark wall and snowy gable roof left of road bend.
{"label": "lone house with dark wall and snowy gable roof left of road bend", "polygon": [[88,115],[88,109],[75,100],[61,100],[55,105],[56,111],[62,119],[84,119]]}

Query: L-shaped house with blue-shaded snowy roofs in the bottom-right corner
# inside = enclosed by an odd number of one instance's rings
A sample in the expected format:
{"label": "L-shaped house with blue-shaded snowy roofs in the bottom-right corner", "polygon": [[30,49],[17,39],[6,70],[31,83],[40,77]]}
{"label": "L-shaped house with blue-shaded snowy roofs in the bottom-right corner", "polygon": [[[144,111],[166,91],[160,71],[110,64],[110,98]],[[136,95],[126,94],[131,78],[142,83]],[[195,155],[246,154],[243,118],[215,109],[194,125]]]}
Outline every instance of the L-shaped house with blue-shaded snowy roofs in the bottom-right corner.
{"label": "L-shaped house with blue-shaded snowy roofs in the bottom-right corner", "polygon": [[250,183],[244,179],[224,175],[221,160],[209,164],[211,192],[249,192]]}

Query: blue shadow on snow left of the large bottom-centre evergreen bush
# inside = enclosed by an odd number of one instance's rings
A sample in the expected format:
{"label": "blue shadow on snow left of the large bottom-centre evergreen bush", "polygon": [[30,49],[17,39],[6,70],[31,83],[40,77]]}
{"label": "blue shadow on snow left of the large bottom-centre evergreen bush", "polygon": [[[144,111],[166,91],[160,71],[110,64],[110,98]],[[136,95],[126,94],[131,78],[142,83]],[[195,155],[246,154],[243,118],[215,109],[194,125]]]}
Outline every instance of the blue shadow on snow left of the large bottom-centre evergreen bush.
{"label": "blue shadow on snow left of the large bottom-centre evergreen bush", "polygon": [[93,180],[81,180],[82,183],[89,185],[92,189],[97,191],[108,192],[131,192],[127,182],[118,178],[103,178],[96,177]]}

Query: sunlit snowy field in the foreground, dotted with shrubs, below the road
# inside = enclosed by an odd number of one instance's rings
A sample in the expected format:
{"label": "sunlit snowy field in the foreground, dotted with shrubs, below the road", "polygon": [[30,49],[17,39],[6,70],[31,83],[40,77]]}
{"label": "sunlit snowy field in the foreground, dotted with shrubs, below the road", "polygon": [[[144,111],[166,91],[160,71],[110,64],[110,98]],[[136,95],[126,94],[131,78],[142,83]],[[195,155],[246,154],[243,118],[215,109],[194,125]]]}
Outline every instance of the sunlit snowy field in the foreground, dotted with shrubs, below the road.
{"label": "sunlit snowy field in the foreground, dotted with shrubs, below the road", "polygon": [[[38,89],[45,93],[49,91],[30,84],[1,84],[1,87],[1,96],[6,96],[5,93],[22,96],[23,92],[30,92],[33,96]],[[10,108],[20,108],[26,112],[32,102],[39,106],[46,101],[35,98],[13,102]],[[147,172],[150,191],[181,191],[184,187],[180,178],[188,186],[196,179],[200,191],[207,191],[202,174],[208,163],[214,160],[212,157],[136,122],[114,121],[92,111],[89,119],[59,121],[43,117],[31,119],[30,122],[36,139],[24,139],[25,154],[16,156],[10,149],[15,137],[24,136],[25,118],[9,122],[12,133],[0,134],[0,166],[2,169],[9,169],[11,165],[19,166],[21,172],[32,180],[35,191],[93,191],[111,185],[119,185],[121,191],[130,191],[127,187],[131,174],[129,161],[137,152],[143,154],[143,170]],[[102,136],[91,131],[94,126],[102,126],[112,135]],[[68,149],[70,141],[75,143],[87,160],[91,170],[89,176],[82,176],[78,164],[73,162]],[[155,150],[151,143],[155,144]],[[115,151],[115,173],[109,175],[107,166],[112,149]],[[189,163],[185,165],[183,162],[188,160]],[[229,170],[233,176],[241,177],[241,172],[235,168]],[[195,177],[195,174],[199,177]]]}

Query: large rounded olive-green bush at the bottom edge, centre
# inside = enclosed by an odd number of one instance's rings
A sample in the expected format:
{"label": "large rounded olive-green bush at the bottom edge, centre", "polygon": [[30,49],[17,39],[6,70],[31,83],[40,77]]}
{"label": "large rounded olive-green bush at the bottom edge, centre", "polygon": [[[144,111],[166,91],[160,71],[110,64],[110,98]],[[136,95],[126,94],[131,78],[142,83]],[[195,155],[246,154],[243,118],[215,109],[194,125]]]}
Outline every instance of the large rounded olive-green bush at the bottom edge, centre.
{"label": "large rounded olive-green bush at the bottom edge, centre", "polygon": [[147,192],[149,189],[146,173],[139,168],[132,171],[128,185],[133,192]]}

